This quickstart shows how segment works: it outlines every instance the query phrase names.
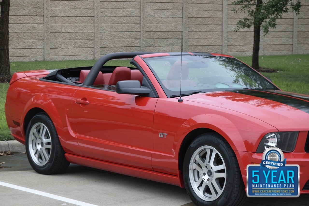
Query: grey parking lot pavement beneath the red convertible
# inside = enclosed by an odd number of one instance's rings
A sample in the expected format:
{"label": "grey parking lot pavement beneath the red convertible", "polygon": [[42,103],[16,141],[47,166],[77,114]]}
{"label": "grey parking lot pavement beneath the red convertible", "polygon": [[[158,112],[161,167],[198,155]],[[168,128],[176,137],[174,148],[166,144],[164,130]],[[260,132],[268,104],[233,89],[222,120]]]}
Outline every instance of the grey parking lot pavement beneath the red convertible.
{"label": "grey parking lot pavement beneath the red convertible", "polygon": [[[122,174],[70,164],[62,174],[32,170],[25,153],[0,156],[1,206],[61,205],[175,205],[193,206],[186,190]],[[298,198],[248,198],[245,206],[309,205],[309,195]]]}

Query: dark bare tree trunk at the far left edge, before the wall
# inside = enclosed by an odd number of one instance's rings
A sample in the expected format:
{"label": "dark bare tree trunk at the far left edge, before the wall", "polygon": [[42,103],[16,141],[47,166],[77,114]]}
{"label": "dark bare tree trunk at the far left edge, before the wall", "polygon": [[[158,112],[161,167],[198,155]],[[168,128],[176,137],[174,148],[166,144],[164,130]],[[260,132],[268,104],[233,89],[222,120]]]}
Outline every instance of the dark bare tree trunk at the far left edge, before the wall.
{"label": "dark bare tree trunk at the far left edge, before the wall", "polygon": [[11,76],[9,59],[10,0],[2,0],[0,17],[0,76]]}

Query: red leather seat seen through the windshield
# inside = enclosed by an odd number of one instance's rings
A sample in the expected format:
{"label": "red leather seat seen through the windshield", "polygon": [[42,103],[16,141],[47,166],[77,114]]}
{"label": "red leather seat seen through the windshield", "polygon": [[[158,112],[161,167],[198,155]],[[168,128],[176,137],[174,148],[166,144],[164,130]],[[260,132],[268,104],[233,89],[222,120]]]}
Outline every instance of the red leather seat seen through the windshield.
{"label": "red leather seat seen through the windshield", "polygon": [[[189,75],[189,69],[187,68],[186,61],[182,61],[181,65],[181,86],[197,86],[196,83],[187,79]],[[163,81],[163,85],[166,88],[179,87],[180,86],[180,64],[181,61],[176,61],[169,73],[167,74],[167,80]]]}

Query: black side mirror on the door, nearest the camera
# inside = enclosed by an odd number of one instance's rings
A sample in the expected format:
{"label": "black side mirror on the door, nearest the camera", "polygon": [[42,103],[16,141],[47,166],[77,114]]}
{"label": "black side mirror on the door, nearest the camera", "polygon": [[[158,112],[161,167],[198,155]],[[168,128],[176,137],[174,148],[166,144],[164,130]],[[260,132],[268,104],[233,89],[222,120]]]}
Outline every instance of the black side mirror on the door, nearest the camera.
{"label": "black side mirror on the door, nearest the camera", "polygon": [[125,80],[117,82],[116,92],[118,94],[148,95],[151,90],[146,86],[141,86],[141,82],[138,80]]}

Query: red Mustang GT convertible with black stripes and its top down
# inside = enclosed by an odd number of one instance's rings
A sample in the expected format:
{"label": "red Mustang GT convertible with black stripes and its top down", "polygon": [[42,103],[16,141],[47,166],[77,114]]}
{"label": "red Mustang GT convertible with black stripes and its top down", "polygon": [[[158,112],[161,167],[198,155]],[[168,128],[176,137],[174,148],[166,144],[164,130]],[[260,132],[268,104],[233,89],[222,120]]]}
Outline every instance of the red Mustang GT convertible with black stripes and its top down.
{"label": "red Mustang GT convertible with black stripes and its top down", "polygon": [[[132,67],[104,66],[123,58]],[[277,147],[309,193],[309,96],[228,55],[112,53],[17,72],[5,110],[41,174],[74,163],[185,187],[197,205],[241,205],[247,165]]]}

